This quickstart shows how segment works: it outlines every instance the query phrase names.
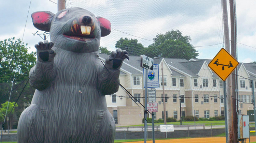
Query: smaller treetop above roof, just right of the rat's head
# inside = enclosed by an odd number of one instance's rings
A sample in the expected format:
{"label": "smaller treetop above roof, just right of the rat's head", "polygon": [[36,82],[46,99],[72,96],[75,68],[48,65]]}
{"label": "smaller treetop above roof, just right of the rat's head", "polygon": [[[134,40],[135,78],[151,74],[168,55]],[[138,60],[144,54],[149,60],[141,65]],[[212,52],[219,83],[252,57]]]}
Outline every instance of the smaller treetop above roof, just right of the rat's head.
{"label": "smaller treetop above roof, just right of the rat's head", "polygon": [[141,52],[145,48],[141,43],[138,43],[137,39],[120,38],[116,44],[116,48],[126,50],[129,55],[141,55]]}

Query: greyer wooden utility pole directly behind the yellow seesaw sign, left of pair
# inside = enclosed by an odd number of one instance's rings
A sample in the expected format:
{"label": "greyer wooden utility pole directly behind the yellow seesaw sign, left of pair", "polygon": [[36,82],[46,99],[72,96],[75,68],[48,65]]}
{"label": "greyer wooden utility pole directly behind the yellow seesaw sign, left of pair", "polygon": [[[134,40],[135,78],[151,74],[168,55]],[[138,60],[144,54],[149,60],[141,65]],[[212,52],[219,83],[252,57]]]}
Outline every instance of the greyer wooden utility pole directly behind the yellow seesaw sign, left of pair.
{"label": "greyer wooden utility pole directly behind the yellow seesaw sign, left of pair", "polygon": [[[230,53],[229,46],[229,29],[228,29],[228,10],[227,10],[227,1],[222,0],[222,12],[223,12],[223,30],[224,30],[224,45],[225,49]],[[227,83],[227,126],[228,126],[228,142],[234,143],[233,137],[233,103],[232,103],[232,77],[229,76],[226,80]],[[225,92],[225,91],[224,91]]]}

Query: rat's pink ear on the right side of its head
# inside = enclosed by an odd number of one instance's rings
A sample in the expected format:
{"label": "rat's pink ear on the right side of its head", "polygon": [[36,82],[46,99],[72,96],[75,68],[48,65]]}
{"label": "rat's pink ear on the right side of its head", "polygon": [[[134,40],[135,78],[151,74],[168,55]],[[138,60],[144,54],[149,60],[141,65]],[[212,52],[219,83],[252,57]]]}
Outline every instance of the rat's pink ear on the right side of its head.
{"label": "rat's pink ear on the right side of its head", "polygon": [[100,23],[101,37],[109,35],[111,32],[111,23],[108,19],[96,17]]}

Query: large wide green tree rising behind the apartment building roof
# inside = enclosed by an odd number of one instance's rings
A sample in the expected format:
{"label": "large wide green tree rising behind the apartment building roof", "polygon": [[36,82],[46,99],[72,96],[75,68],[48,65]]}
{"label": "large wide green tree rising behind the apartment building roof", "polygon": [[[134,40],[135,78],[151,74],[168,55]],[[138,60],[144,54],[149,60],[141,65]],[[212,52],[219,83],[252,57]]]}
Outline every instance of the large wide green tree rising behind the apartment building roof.
{"label": "large wide green tree rising behind the apartment building roof", "polygon": [[165,34],[157,34],[154,43],[144,49],[143,53],[149,57],[164,58],[196,58],[199,53],[190,44],[190,36],[183,36],[179,30],[170,30]]}

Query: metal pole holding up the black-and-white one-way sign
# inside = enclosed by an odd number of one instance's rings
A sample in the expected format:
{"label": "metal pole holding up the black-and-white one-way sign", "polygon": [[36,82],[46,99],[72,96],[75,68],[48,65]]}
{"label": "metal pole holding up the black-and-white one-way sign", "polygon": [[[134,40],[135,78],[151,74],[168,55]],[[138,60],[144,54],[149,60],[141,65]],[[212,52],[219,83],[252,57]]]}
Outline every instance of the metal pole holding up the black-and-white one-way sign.
{"label": "metal pole holding up the black-and-white one-way sign", "polygon": [[144,143],[147,142],[147,69],[145,69]]}

